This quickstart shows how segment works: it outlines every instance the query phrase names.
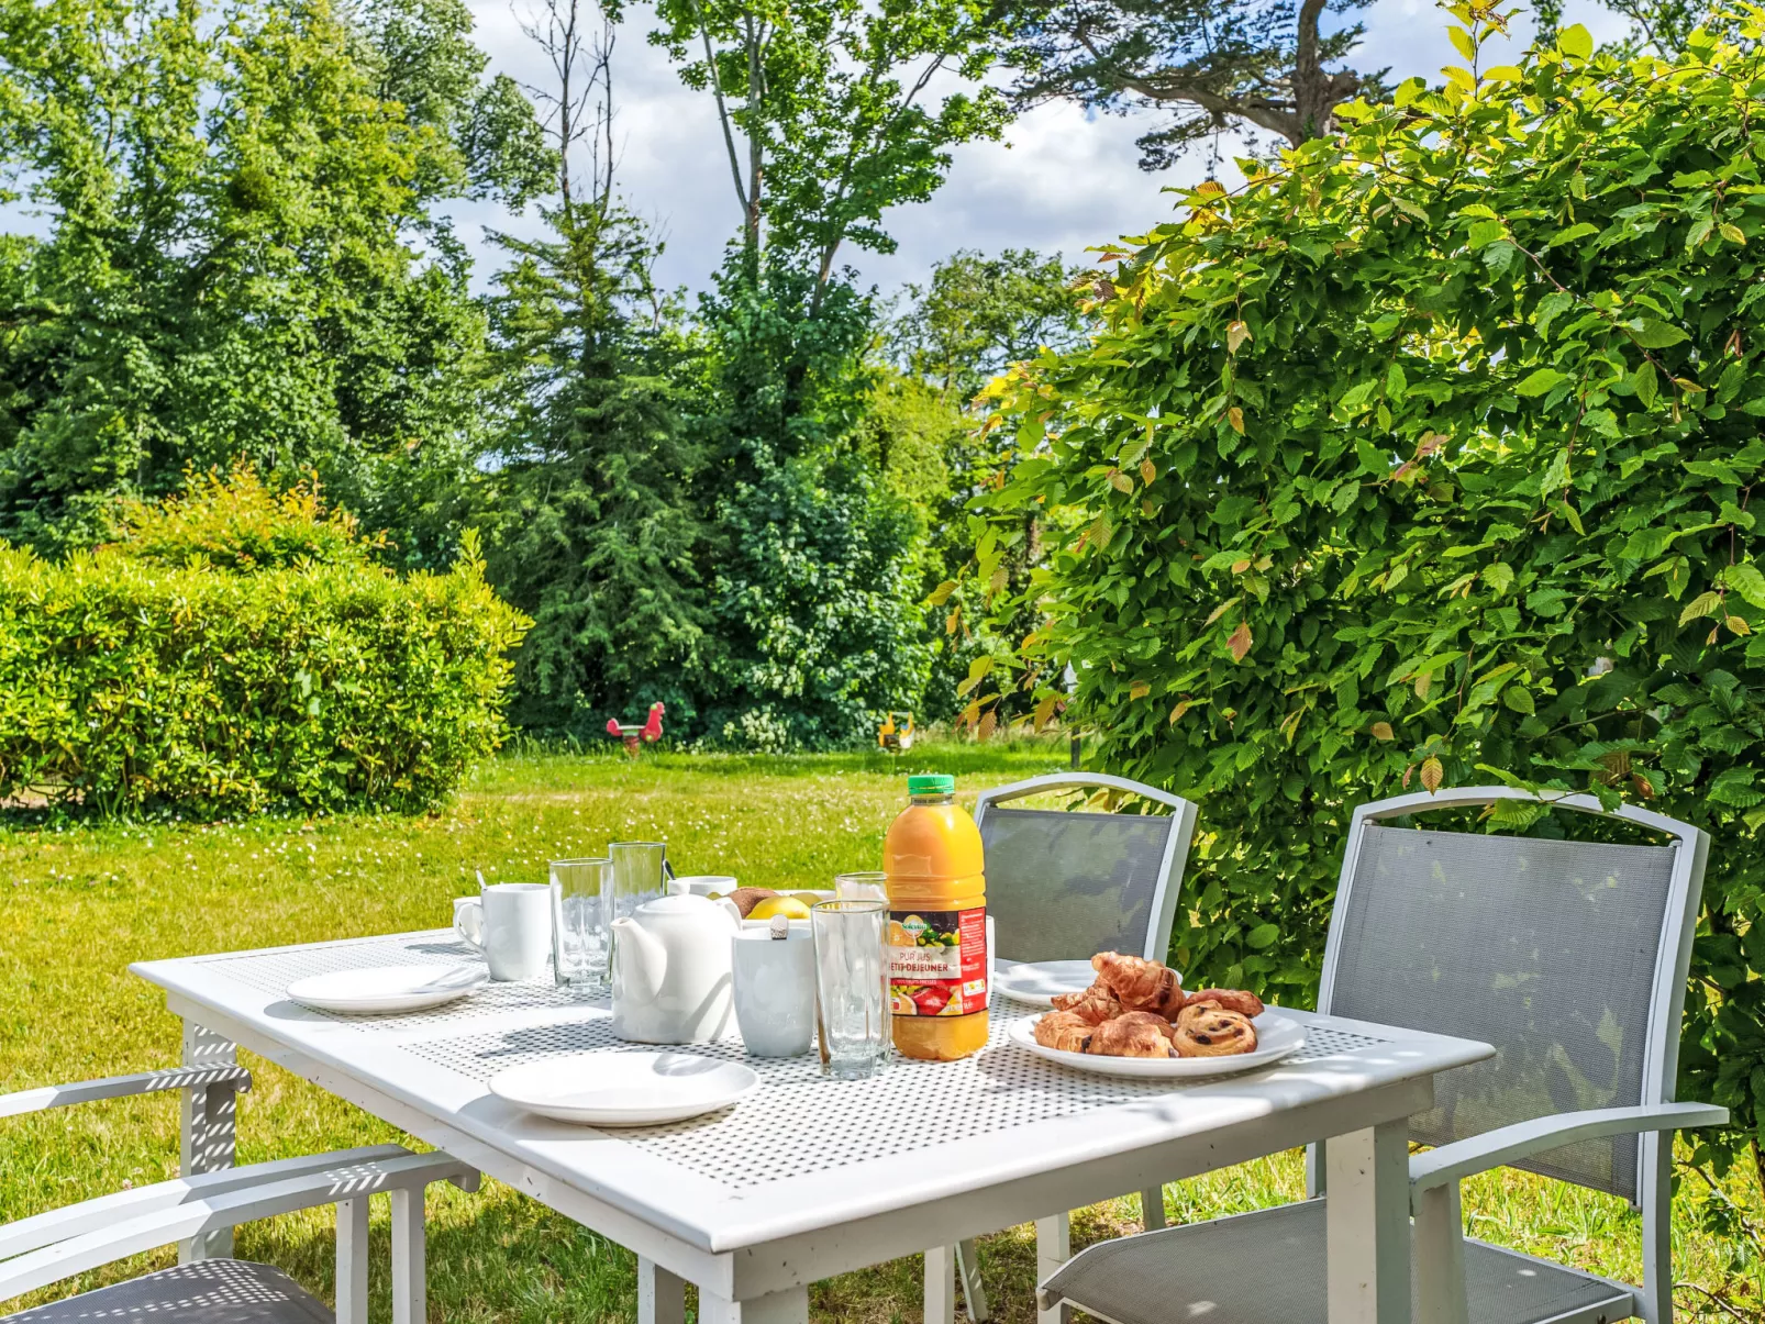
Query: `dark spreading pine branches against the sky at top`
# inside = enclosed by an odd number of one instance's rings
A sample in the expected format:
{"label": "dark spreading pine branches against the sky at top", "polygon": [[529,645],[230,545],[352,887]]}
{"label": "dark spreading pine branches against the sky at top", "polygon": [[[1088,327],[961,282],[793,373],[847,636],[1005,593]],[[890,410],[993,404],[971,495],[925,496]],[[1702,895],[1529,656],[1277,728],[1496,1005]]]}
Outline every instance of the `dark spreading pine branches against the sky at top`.
{"label": "dark spreading pine branches against the sky at top", "polygon": [[1165,169],[1193,143],[1251,125],[1297,147],[1333,132],[1336,108],[1382,94],[1380,72],[1338,65],[1366,26],[1322,30],[1366,0],[1020,0],[1022,106],[1172,115],[1140,138],[1140,168]]}

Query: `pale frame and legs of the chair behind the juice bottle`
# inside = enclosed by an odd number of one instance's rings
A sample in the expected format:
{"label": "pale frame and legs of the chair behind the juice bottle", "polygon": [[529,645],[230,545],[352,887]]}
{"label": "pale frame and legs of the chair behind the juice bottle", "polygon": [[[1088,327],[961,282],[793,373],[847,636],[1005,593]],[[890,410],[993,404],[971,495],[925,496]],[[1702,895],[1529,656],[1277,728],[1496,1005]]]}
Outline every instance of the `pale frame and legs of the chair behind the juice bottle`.
{"label": "pale frame and legs of the chair behind the juice bottle", "polygon": [[[1126,777],[1110,773],[1059,771],[1041,777],[1029,777],[1010,786],[995,786],[981,791],[974,801],[974,823],[985,826],[987,812],[994,807],[1004,809],[1013,800],[1025,800],[1034,794],[1054,791],[1124,791],[1153,800],[1170,809],[1170,837],[1165,840],[1165,856],[1160,860],[1158,883],[1153,888],[1153,913],[1145,927],[1145,944],[1140,952],[1147,960],[1163,960],[1170,953],[1170,929],[1177,918],[1177,895],[1183,890],[1183,872],[1190,858],[1190,846],[1195,840],[1195,819],[1198,807],[1193,800],[1160,791]],[[1140,1215],[1145,1230],[1165,1225],[1165,1193],[1161,1186],[1140,1192]],[[951,1253],[951,1250],[955,1253]],[[1052,1215],[1036,1220],[1036,1276],[1054,1273],[1071,1257],[1071,1220],[1070,1215]],[[985,1324],[988,1319],[987,1292],[981,1287],[980,1259],[974,1239],[962,1245],[939,1246],[925,1252],[925,1319],[927,1324],[948,1320],[955,1310],[955,1283],[962,1285],[962,1299],[969,1305],[969,1319]],[[1040,1312],[1043,1324],[1064,1320],[1066,1310],[1055,1306]]]}

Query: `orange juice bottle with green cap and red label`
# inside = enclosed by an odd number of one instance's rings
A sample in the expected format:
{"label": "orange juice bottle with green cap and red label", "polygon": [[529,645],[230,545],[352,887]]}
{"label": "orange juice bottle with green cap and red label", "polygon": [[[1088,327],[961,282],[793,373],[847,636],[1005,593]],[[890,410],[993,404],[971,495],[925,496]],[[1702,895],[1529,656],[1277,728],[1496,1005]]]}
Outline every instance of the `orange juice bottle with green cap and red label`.
{"label": "orange juice bottle with green cap and red label", "polygon": [[987,1045],[981,830],[955,777],[909,777],[907,796],[882,839],[895,1047],[948,1063]]}

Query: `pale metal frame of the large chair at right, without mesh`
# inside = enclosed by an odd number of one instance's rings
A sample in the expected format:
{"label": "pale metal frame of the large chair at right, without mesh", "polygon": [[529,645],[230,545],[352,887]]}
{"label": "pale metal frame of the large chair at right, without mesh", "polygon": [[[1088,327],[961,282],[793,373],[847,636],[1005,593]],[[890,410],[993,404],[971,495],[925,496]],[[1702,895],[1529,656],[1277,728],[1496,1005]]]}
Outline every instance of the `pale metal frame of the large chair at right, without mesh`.
{"label": "pale metal frame of the large chair at right, without mesh", "polygon": [[[1701,1103],[1675,1103],[1679,1077],[1679,1033],[1686,1008],[1686,978],[1691,969],[1691,943],[1698,927],[1703,895],[1703,870],[1710,839],[1701,828],[1664,814],[1619,805],[1604,809],[1585,793],[1534,794],[1511,786],[1451,787],[1438,793],[1375,800],[1354,810],[1348,844],[1343,851],[1336,904],[1331,909],[1329,937],[1324,944],[1324,971],[1318,985],[1318,1012],[1329,1013],[1336,994],[1336,969],[1341,962],[1341,918],[1354,886],[1356,867],[1366,828],[1387,819],[1408,817],[1442,809],[1472,809],[1502,800],[1543,803],[1594,817],[1657,831],[1670,839],[1675,853],[1668,881],[1668,904],[1661,916],[1661,943],[1656,952],[1654,992],[1649,1006],[1649,1031],[1643,1043],[1641,1103],[1624,1109],[1560,1112],[1530,1123],[1502,1126],[1483,1135],[1430,1149],[1410,1160],[1412,1209],[1416,1213],[1416,1273],[1424,1285],[1423,1320],[1426,1324],[1461,1324],[1468,1303],[1463,1285],[1463,1216],[1458,1183],[1465,1176],[1500,1167],[1574,1139],[1596,1139],[1640,1132],[1636,1163],[1636,1199],[1631,1207],[1643,1216],[1643,1285],[1629,1289],[1638,1315],[1649,1324],[1666,1324],[1673,1317],[1671,1273],[1671,1192],[1673,1132],[1680,1126],[1710,1126],[1728,1119],[1726,1109]],[[1663,1140],[1664,1137],[1664,1140]],[[1322,1192],[1322,1163],[1317,1146],[1306,1149],[1306,1193]],[[1421,1322],[1419,1322],[1421,1324]]]}

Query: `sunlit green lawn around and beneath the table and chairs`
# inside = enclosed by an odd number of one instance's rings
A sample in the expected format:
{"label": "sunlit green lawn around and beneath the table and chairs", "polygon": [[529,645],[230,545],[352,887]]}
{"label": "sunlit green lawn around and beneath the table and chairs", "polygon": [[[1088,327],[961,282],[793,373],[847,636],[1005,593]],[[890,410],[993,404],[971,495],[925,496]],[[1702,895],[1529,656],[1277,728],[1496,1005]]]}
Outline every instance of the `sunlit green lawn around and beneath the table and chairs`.
{"label": "sunlit green lawn around and beneath the table and chairs", "polygon": [[[962,793],[1064,766],[1064,745],[941,747],[913,766],[955,771]],[[404,819],[254,817],[222,824],[0,826],[0,1093],[176,1061],[178,1024],[131,960],[438,927],[473,869],[540,879],[547,860],[612,839],[665,839],[683,872],[745,883],[824,886],[874,867],[902,780],[879,752],[791,759],[648,754],[512,754],[485,764],[445,812]],[[247,1056],[256,1087],[240,1107],[240,1158],[256,1162],[399,1135],[323,1091]],[[176,1170],[169,1096],[86,1105],[0,1121],[0,1223],[55,1204],[159,1181]],[[1191,1222],[1296,1199],[1297,1155],[1165,1190],[1172,1220]],[[1753,1227],[1765,1207],[1739,1177],[1710,1192],[1691,1177],[1677,1211],[1680,1317],[1765,1320]],[[1641,1275],[1638,1220],[1617,1200],[1527,1174],[1467,1185],[1472,1230],[1631,1282]],[[1726,1234],[1709,1230],[1710,1211]],[[376,1209],[376,1220],[383,1220]],[[1137,1229],[1135,1200],[1078,1213],[1075,1243]],[[374,1223],[376,1317],[388,1312],[385,1225]],[[625,1320],[632,1257],[496,1183],[469,1197],[431,1197],[431,1312],[448,1324]],[[332,1287],[327,1213],[240,1229],[238,1253]],[[1029,1227],[983,1243],[1001,1320],[1034,1319]],[[132,1276],[171,1252],[115,1266],[71,1287]],[[920,1262],[897,1260],[819,1283],[815,1319],[914,1324]]]}

